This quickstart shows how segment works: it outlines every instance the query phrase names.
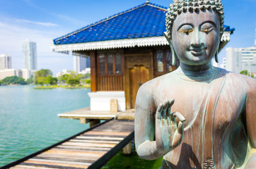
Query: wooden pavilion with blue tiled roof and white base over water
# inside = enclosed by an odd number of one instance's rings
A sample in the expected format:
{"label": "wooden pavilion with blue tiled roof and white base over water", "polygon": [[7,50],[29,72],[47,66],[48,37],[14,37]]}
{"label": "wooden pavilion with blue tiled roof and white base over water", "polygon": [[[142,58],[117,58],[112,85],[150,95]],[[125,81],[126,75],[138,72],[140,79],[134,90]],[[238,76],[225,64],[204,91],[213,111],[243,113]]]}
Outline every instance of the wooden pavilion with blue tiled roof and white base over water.
{"label": "wooden pavilion with blue tiled roof and white base over water", "polygon": [[[146,1],[53,40],[52,51],[90,57],[91,111],[110,111],[110,99],[119,111],[134,108],[141,84],[178,68],[163,35],[166,11]],[[219,50],[235,30],[224,27]]]}

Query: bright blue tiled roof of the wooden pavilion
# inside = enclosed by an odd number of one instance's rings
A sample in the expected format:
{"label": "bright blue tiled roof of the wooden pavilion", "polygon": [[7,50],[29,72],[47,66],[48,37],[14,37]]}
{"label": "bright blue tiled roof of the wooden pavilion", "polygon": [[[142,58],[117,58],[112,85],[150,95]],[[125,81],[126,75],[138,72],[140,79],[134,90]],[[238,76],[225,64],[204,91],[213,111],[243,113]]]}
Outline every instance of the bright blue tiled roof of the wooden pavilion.
{"label": "bright blue tiled roof of the wooden pavilion", "polygon": [[[167,7],[145,3],[54,39],[54,44],[76,44],[113,39],[159,37],[165,32]],[[226,26],[226,31],[232,30]],[[232,31],[233,32],[233,31]]]}

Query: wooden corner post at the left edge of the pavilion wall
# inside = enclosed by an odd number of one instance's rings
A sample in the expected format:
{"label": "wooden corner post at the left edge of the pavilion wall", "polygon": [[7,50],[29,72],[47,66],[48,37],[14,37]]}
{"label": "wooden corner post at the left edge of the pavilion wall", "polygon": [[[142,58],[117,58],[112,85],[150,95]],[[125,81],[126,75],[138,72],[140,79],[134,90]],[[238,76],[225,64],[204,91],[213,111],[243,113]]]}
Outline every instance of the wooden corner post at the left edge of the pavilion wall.
{"label": "wooden corner post at the left edge of the pavilion wall", "polygon": [[90,51],[91,92],[96,92],[96,51]]}

